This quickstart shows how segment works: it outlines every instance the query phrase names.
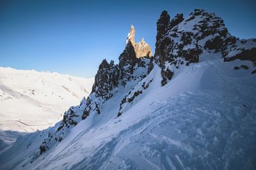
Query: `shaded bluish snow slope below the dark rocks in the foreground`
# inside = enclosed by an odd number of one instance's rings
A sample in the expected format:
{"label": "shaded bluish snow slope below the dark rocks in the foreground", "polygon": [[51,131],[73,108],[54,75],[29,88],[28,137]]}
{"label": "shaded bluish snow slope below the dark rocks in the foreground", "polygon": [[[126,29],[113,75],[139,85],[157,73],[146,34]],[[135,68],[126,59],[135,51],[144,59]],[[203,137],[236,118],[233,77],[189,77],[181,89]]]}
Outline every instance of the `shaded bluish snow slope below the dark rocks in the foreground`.
{"label": "shaded bluish snow slope below the dark rocks in the foreground", "polygon": [[[241,64],[249,67],[234,70]],[[182,66],[164,87],[155,66],[116,118],[126,93],[115,91],[35,160],[55,127],[17,139],[0,153],[1,169],[254,169],[256,78],[252,62],[212,57]],[[39,137],[40,136],[40,137]],[[13,154],[15,153],[15,154]]]}

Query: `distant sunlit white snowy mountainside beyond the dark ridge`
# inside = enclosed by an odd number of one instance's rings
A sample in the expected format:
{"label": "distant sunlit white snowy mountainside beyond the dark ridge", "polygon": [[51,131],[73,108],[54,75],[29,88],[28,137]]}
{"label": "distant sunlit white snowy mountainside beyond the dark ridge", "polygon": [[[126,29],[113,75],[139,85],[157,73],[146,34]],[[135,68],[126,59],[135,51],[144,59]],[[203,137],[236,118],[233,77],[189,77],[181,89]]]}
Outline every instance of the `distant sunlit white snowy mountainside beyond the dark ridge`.
{"label": "distant sunlit white snowy mountainside beyond the dark ridge", "polygon": [[0,147],[20,135],[60,121],[69,106],[87,97],[93,78],[0,67]]}

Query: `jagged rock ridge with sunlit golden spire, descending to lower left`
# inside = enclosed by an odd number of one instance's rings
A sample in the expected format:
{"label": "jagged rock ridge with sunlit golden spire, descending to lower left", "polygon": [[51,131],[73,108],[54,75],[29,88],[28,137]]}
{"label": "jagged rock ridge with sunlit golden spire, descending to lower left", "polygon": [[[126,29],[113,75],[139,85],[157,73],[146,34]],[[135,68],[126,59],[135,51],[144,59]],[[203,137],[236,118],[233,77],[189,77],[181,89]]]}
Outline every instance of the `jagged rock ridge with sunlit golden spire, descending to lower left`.
{"label": "jagged rock ridge with sunlit golden spire, descending to lower left", "polygon": [[100,114],[100,108],[113,97],[115,89],[120,86],[125,88],[127,83],[130,87],[131,84],[136,84],[147,76],[152,51],[143,38],[139,43],[135,43],[134,36],[135,29],[132,25],[127,36],[124,52],[118,58],[119,64],[115,64],[113,60],[110,62],[106,59],[102,60],[95,75],[90,96],[83,99],[79,106],[72,106],[63,114],[60,125],[58,125],[56,131],[49,132],[47,138],[40,145],[40,151],[34,153],[31,162],[56,145],[56,142],[61,142],[68,129],[76,126],[92,113]]}

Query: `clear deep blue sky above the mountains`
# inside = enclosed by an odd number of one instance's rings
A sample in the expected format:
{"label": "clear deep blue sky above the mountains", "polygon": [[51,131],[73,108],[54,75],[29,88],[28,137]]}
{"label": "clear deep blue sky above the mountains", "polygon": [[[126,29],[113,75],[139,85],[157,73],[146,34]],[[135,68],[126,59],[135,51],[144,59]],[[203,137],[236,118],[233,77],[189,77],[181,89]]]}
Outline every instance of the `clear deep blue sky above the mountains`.
{"label": "clear deep blue sky above the mountains", "polygon": [[124,50],[131,24],[153,50],[161,11],[188,17],[204,8],[238,38],[256,37],[255,0],[0,1],[0,66],[93,77]]}

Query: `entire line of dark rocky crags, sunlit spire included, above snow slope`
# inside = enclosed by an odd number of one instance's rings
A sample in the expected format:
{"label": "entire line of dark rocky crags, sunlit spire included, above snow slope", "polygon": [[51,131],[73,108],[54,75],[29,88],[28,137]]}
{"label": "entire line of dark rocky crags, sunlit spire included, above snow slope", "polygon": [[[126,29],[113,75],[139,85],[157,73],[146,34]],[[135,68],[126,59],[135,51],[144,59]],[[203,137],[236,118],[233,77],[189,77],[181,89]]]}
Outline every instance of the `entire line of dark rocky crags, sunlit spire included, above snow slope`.
{"label": "entire line of dark rocky crags, sunlit spire included, above snow slope", "polygon": [[60,142],[70,127],[76,126],[89,115],[106,114],[102,113],[102,108],[108,106],[108,101],[114,96],[120,96],[115,101],[118,110],[113,106],[116,117],[120,117],[154,81],[152,75],[148,76],[154,67],[161,69],[161,86],[164,86],[180,67],[200,60],[211,60],[213,55],[223,58],[223,61],[241,59],[251,60],[255,64],[256,40],[241,40],[231,36],[223,20],[205,10],[195,10],[186,19],[182,14],[177,14],[172,20],[167,11],[163,11],[157,21],[154,57],[144,39],[136,43],[134,36],[135,29],[132,26],[125,49],[118,58],[119,63],[108,63],[106,59],[102,61],[90,96],[79,106],[65,112],[63,121],[58,124],[56,131],[49,133],[33,159],[57,145],[56,141]]}

